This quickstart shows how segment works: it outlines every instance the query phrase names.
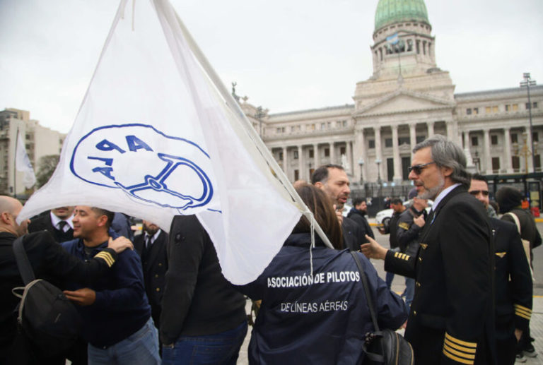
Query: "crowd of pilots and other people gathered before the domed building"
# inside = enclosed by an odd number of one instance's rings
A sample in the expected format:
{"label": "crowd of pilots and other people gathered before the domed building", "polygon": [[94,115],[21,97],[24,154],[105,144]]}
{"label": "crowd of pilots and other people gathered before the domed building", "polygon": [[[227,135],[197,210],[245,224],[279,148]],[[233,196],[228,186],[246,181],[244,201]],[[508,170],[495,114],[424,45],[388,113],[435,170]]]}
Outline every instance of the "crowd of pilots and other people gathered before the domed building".
{"label": "crowd of pilots and other people gathered before the domed building", "polygon": [[[247,334],[245,296],[262,303],[250,364],[362,364],[374,330],[368,300],[380,328],[405,328],[415,364],[510,365],[537,355],[531,263],[541,237],[520,208],[522,194],[501,188],[503,216],[490,217],[488,183],[467,173],[458,145],[436,135],[413,152],[409,206],[390,198],[392,219],[378,229],[390,249],[375,241],[364,199],[342,214],[349,176],[327,164],[294,186],[333,249],[303,215],[243,286],[223,277],[194,215],[174,217],[169,234],[144,220],[133,237],[122,213],[85,205],[18,223],[21,203],[0,196],[0,364],[235,364]],[[18,237],[36,276],[63,289],[83,318],[80,338],[54,357],[18,330]],[[386,281],[369,258],[384,261]],[[405,277],[402,296],[391,290],[395,274]]]}

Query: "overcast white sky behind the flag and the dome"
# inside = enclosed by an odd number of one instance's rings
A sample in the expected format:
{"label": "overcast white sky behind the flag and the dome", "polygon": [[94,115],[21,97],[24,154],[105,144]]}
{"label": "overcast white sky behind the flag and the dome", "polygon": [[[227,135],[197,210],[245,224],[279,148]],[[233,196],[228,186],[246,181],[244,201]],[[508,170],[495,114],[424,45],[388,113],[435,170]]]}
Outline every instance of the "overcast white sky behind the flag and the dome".
{"label": "overcast white sky behind the flag and the dome", "polygon": [[[132,0],[129,0],[132,2]],[[136,6],[138,1],[136,0]],[[378,0],[170,0],[227,88],[270,113],[352,103]],[[71,128],[115,0],[0,0],[0,109]],[[455,92],[543,83],[541,0],[426,0]],[[136,8],[137,11],[137,8]]]}

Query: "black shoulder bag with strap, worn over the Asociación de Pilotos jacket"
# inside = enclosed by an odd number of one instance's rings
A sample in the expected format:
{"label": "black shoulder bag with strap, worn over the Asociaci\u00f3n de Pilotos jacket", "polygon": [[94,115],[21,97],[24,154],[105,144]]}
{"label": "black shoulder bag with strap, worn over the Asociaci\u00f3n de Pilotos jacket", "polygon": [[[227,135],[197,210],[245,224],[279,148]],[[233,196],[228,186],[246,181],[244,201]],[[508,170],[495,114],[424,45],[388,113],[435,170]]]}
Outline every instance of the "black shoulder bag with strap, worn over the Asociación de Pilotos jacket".
{"label": "black shoulder bag with strap, worn over the Asociaci\u00f3n de Pilotos jacket", "polygon": [[402,335],[399,335],[393,330],[387,328],[379,330],[377,324],[377,316],[375,316],[375,309],[373,308],[373,299],[371,297],[370,288],[368,287],[368,279],[362,268],[362,264],[356,252],[351,251],[351,255],[358,266],[364,292],[366,292],[366,301],[368,302],[368,309],[370,309],[371,321],[373,322],[373,333],[366,333],[366,342],[363,345],[363,350],[366,352],[366,359],[364,359],[364,365],[413,365],[414,354],[411,344],[407,342]]}

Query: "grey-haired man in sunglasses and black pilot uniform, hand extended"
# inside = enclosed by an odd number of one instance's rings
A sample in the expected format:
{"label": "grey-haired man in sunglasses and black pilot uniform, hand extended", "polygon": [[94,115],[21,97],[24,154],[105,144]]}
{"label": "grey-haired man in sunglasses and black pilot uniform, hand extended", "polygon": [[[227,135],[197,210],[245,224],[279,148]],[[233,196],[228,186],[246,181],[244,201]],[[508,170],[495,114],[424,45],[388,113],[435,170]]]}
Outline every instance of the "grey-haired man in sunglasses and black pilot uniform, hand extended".
{"label": "grey-haired man in sunglasses and black pilot uniform, hand extended", "polygon": [[414,277],[405,337],[416,364],[495,364],[494,247],[483,205],[467,193],[460,146],[432,136],[415,146],[409,179],[419,198],[433,199],[414,255],[377,242],[362,246],[385,270]]}

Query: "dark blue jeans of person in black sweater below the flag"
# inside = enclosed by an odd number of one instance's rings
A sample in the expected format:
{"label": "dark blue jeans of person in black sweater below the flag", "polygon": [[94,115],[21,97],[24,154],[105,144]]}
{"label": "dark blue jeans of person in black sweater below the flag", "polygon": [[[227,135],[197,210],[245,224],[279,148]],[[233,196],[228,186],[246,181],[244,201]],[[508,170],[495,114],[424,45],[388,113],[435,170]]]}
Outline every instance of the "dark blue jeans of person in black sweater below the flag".
{"label": "dark blue jeans of person in black sweater below the flag", "polygon": [[247,335],[247,322],[233,330],[215,335],[183,336],[173,345],[162,347],[164,365],[224,364],[235,365]]}

